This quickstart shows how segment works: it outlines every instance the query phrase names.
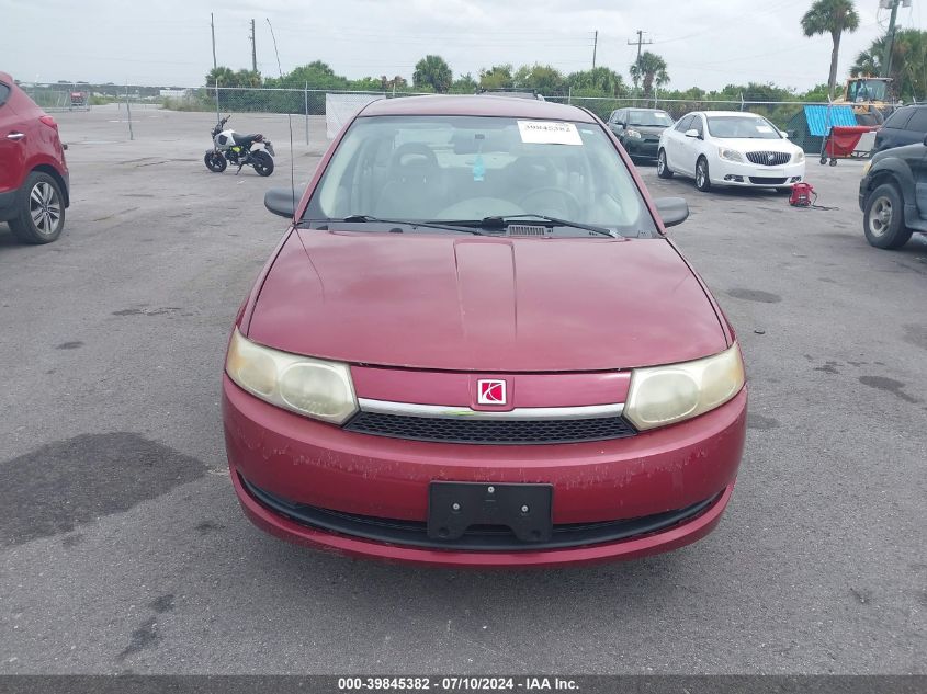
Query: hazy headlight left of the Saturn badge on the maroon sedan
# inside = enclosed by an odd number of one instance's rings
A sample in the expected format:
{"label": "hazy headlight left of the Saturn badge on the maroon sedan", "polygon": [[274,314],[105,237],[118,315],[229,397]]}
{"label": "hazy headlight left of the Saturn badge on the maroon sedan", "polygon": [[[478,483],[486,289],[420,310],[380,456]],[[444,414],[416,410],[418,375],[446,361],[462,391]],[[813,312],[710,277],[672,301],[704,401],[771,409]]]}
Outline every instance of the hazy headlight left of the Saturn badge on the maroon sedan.
{"label": "hazy headlight left of the Saturn badge on the maroon sedan", "polygon": [[358,411],[347,364],[272,350],[244,338],[237,328],[225,371],[251,395],[298,414],[343,424]]}

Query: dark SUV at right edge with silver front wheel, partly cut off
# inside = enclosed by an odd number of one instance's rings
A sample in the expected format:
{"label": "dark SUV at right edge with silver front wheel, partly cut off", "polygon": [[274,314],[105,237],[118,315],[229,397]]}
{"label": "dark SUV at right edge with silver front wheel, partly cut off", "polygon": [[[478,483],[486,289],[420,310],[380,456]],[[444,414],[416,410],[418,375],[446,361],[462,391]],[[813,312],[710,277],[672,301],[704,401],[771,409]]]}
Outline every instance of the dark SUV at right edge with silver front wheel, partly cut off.
{"label": "dark SUV at right edge with silver front wheel, partly cut off", "polygon": [[875,248],[901,248],[912,232],[927,232],[927,137],[881,151],[859,184],[862,230]]}

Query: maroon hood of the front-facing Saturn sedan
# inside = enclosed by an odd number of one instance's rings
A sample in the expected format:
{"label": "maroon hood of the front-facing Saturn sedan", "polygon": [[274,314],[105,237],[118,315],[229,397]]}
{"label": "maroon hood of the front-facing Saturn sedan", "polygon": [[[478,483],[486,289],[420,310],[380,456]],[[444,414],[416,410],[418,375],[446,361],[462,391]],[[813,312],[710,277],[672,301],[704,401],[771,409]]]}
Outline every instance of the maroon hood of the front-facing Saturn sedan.
{"label": "maroon hood of the front-facing Saturn sedan", "polygon": [[698,359],[725,333],[665,239],[509,239],[301,230],[247,328],[286,352],[476,372]]}

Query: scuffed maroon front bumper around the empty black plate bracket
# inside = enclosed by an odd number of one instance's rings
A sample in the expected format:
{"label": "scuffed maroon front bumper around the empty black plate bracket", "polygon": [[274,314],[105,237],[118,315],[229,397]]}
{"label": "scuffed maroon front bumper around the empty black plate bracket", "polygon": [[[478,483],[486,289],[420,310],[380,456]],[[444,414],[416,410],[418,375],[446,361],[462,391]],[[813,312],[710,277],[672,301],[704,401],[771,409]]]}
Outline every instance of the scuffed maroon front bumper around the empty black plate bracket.
{"label": "scuffed maroon front bumper around the empty black plate bracket", "polygon": [[[629,439],[476,446],[348,432],[253,398],[227,376],[223,383],[231,479],[242,509],[259,527],[317,548],[443,566],[550,567],[628,559],[703,537],[719,522],[733,490],[746,399],[744,390],[702,417]],[[291,503],[313,513],[330,511],[414,527],[427,519],[433,480],[550,483],[555,530],[622,520],[631,527],[642,520],[671,520],[674,512],[693,511],[672,523],[614,535],[619,539],[499,550],[387,542],[351,530],[355,525],[332,525],[308,511],[286,511]]]}

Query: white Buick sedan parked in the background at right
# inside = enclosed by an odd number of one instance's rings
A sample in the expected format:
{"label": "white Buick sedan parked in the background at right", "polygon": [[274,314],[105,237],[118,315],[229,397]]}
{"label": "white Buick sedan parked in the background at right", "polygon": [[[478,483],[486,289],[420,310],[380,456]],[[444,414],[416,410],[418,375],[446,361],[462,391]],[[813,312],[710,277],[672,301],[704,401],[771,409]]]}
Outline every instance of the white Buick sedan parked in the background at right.
{"label": "white Buick sedan parked in the background at right", "polygon": [[668,179],[674,173],[696,179],[700,191],[712,185],[788,191],[804,179],[805,156],[762,116],[696,112],[660,136],[657,175]]}

